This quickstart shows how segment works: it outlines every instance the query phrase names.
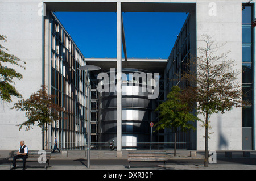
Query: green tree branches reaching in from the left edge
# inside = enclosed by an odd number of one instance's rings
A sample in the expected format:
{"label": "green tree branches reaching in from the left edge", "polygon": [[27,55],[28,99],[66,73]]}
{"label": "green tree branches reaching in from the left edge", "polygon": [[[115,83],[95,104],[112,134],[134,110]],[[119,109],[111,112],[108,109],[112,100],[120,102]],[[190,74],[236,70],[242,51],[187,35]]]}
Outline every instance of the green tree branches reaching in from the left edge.
{"label": "green tree branches reaching in from the left edge", "polygon": [[[0,35],[0,41],[6,42],[6,38],[6,36]],[[12,96],[22,98],[22,95],[14,87],[14,78],[20,80],[22,79],[22,74],[17,73],[9,64],[25,69],[20,62],[24,64],[26,64],[26,62],[12,54],[6,53],[6,51],[8,51],[8,49],[0,44],[0,99],[3,102],[11,102]]]}

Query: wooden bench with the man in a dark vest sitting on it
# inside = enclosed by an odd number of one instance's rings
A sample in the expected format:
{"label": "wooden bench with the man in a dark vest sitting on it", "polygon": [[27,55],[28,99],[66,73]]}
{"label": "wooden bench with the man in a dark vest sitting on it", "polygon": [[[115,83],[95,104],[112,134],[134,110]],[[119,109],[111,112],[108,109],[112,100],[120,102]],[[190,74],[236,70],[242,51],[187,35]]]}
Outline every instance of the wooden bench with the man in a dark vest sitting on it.
{"label": "wooden bench with the man in a dark vest sitting on it", "polygon": [[[13,166],[13,157],[15,155],[18,155],[17,154],[18,151],[19,150],[14,150],[14,151],[11,151],[11,153],[10,153],[10,158],[9,158],[9,161],[11,161],[10,169]],[[28,157],[26,159],[26,163],[27,162],[38,162],[38,158],[40,156],[42,156],[42,153],[40,153],[39,151],[40,150],[28,150]],[[49,167],[49,160],[51,159],[51,150],[43,150],[43,151],[46,151],[46,163],[40,163],[40,164],[45,164],[44,169],[46,169],[47,164],[48,164],[48,167]],[[18,158],[16,160],[16,162],[22,162],[22,158]]]}

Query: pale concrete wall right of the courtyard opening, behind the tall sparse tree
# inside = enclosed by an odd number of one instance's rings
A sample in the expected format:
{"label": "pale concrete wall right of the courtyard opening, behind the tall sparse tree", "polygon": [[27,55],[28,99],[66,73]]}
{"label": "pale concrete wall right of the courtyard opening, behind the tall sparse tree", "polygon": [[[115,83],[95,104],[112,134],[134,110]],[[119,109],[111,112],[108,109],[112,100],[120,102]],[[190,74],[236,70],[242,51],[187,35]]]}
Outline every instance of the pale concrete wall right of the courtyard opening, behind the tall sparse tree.
{"label": "pale concrete wall right of the courtyard opening, behind the tall sparse tree", "polygon": [[[211,3],[211,4],[210,4]],[[241,1],[197,1],[197,48],[205,47],[201,35],[213,36],[219,44],[226,43],[217,54],[230,51],[229,60],[234,60],[236,69],[242,70],[242,10]],[[199,52],[197,51],[197,56]],[[241,75],[238,82],[242,83]],[[212,115],[209,132],[209,150],[241,150],[242,149],[242,108],[233,108],[224,115]],[[200,116],[205,120],[203,116]],[[205,129],[197,124],[197,150],[204,150]]]}

